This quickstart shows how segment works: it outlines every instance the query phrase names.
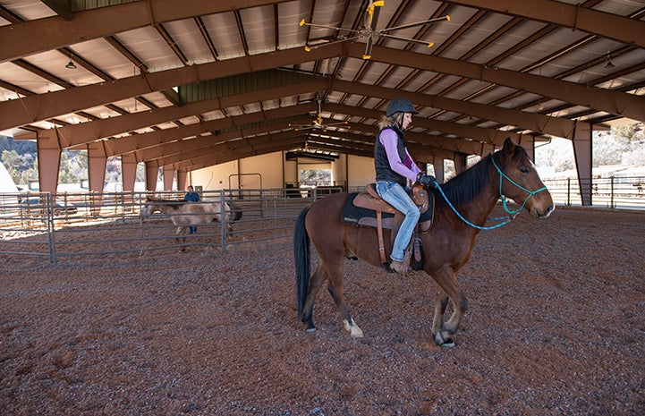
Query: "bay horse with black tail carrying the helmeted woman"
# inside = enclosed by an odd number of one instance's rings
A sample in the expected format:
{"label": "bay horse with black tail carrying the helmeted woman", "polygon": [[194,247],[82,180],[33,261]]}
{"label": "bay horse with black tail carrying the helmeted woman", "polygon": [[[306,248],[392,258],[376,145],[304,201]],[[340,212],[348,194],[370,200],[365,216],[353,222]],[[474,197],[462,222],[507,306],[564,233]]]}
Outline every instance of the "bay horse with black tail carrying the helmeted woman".
{"label": "bay horse with black tail carrying the helmeted woman", "polygon": [[[422,267],[438,285],[432,322],[434,342],[440,346],[454,346],[451,336],[457,332],[467,309],[457,272],[470,259],[475,238],[484,228],[497,200],[501,199],[505,208],[506,197],[522,204],[509,218],[522,208],[531,216],[547,217],[554,204],[526,149],[515,145],[510,138],[505,140],[502,149],[441,185],[440,190],[430,190],[435,194],[435,212],[430,230],[420,233]],[[312,202],[302,209],[294,225],[297,313],[307,332],[316,330],[312,320],[314,300],[327,281],[327,290],[340,311],[344,329],[352,337],[363,336],[344,302],[344,259],[361,259],[381,268],[384,265],[378,251],[377,229],[341,221],[348,196],[346,192],[335,193]],[[383,231],[386,253],[389,253],[392,239],[387,230]],[[319,257],[313,274],[310,273],[310,244]],[[453,302],[454,311],[445,322],[449,300]]]}

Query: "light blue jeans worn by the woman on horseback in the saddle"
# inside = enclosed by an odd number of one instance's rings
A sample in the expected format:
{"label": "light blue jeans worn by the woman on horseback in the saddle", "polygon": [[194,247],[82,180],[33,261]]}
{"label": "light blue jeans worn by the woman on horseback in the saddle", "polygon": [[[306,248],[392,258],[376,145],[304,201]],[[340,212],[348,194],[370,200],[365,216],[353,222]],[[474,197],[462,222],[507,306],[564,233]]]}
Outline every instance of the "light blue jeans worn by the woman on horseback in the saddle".
{"label": "light blue jeans worn by the woman on horseback in the saddle", "polygon": [[405,249],[412,239],[414,226],[419,222],[421,213],[408,196],[407,191],[398,183],[378,181],[377,192],[383,200],[386,200],[391,206],[405,215],[401,228],[396,233],[395,244],[392,247],[392,255],[390,256],[395,261],[403,261]]}

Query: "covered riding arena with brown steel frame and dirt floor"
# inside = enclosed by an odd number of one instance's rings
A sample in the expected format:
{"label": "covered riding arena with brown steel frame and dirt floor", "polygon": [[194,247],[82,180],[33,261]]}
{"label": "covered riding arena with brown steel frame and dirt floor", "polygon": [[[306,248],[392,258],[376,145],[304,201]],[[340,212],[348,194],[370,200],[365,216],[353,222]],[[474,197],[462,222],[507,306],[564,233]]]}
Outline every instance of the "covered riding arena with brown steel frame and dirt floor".
{"label": "covered riding arena with brown steel frame and dirt floor", "polygon": [[[643,16],[630,0],[0,0],[0,134],[36,140],[39,173],[35,206],[0,203],[0,414],[643,414],[645,211],[592,174],[594,132],[645,123]],[[478,236],[454,348],[432,340],[423,273],[345,260],[363,338],[326,291],[316,332],[296,317],[294,217],[373,182],[397,97],[440,183],[507,137],[575,155],[573,204],[553,192],[551,216]],[[87,155],[87,191],[60,191],[63,150]],[[310,168],[333,183],[300,188]],[[182,244],[139,217],[187,184],[240,204],[233,233]]]}

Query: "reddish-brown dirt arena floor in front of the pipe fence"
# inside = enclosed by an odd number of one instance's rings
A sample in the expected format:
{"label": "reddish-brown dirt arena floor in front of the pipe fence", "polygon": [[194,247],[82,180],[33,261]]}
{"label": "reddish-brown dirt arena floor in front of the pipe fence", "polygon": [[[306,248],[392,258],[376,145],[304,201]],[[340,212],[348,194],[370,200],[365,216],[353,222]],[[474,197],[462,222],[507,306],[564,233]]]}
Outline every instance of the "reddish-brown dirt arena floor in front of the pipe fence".
{"label": "reddish-brown dirt arena floor in front of the pipe fence", "polygon": [[642,415],[645,212],[558,208],[480,233],[454,348],[434,284],[346,261],[365,332],[318,295],[296,318],[289,240],[55,264],[0,257],[2,415]]}

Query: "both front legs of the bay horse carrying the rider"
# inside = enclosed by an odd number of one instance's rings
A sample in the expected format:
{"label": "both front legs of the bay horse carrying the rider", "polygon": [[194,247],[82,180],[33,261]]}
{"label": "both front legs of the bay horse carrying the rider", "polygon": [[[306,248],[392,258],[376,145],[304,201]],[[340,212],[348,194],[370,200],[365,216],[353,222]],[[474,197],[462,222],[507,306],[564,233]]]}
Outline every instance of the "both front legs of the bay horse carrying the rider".
{"label": "both front legs of the bay horse carrying the rider", "polygon": [[[437,292],[435,316],[432,320],[432,335],[435,344],[454,346],[454,341],[450,336],[459,329],[463,314],[468,309],[468,301],[450,267],[438,270],[434,277],[441,290]],[[448,321],[444,322],[449,299],[453,301],[454,312]]]}

